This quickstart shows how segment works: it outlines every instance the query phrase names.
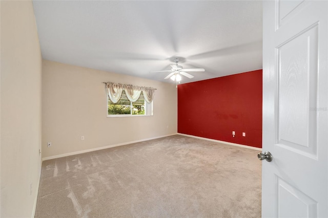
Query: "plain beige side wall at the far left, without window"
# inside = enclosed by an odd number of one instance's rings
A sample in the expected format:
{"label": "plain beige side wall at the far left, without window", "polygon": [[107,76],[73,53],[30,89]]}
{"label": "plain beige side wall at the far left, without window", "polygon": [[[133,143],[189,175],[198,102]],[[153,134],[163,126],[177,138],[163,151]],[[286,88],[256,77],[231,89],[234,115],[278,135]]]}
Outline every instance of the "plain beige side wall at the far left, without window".
{"label": "plain beige side wall at the far left, without window", "polygon": [[0,4],[1,217],[31,217],[40,172],[42,58],[32,2]]}

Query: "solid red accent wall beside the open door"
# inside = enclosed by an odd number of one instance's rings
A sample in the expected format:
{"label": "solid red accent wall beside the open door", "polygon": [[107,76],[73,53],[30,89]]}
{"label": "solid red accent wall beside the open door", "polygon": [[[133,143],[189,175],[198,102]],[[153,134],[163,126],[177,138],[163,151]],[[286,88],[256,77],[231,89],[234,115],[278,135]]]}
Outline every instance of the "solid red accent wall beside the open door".
{"label": "solid red accent wall beside the open door", "polygon": [[261,148],[262,70],[178,85],[178,133]]}

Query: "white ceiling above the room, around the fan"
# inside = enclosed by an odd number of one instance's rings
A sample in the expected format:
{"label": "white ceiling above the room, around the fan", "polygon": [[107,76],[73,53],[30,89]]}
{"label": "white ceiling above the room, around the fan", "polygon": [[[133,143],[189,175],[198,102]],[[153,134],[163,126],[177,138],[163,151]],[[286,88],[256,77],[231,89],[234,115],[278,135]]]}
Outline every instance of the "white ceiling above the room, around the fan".
{"label": "white ceiling above the room, around the fan", "polygon": [[181,83],[262,69],[261,1],[33,1],[44,59]]}

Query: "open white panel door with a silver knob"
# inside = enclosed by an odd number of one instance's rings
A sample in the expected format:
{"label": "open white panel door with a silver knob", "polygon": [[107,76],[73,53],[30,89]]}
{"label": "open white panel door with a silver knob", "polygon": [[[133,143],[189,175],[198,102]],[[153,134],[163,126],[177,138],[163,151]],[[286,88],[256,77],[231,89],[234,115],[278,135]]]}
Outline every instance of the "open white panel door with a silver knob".
{"label": "open white panel door with a silver knob", "polygon": [[328,217],[327,15],[263,1],[262,217]]}

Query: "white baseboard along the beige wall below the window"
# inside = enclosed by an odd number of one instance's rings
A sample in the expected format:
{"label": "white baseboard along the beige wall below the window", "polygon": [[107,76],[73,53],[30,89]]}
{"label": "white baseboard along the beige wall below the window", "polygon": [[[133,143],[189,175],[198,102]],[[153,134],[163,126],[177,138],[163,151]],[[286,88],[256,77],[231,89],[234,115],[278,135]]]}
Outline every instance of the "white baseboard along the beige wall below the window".
{"label": "white baseboard along the beige wall below the window", "polygon": [[51,159],[55,159],[55,158],[63,158],[63,157],[71,156],[71,155],[83,154],[83,153],[90,152],[90,151],[102,150],[102,149],[106,149],[106,148],[117,147],[117,146],[121,146],[121,145],[127,145],[127,144],[136,143],[136,142],[143,142],[143,141],[163,138],[163,137],[167,137],[167,136],[174,136],[174,135],[177,135],[177,134],[174,133],[174,134],[169,134],[169,135],[165,135],[165,136],[157,136],[157,137],[152,137],[152,138],[148,138],[148,139],[141,139],[141,140],[136,140],[136,141],[131,141],[131,142],[123,142],[123,143],[120,143],[120,144],[107,145],[107,146],[103,146],[103,147],[96,147],[96,148],[91,148],[91,149],[86,149],[86,150],[79,150],[79,151],[69,152],[69,153],[66,153],[66,154],[46,157],[46,158],[43,158],[42,161],[51,160]]}

